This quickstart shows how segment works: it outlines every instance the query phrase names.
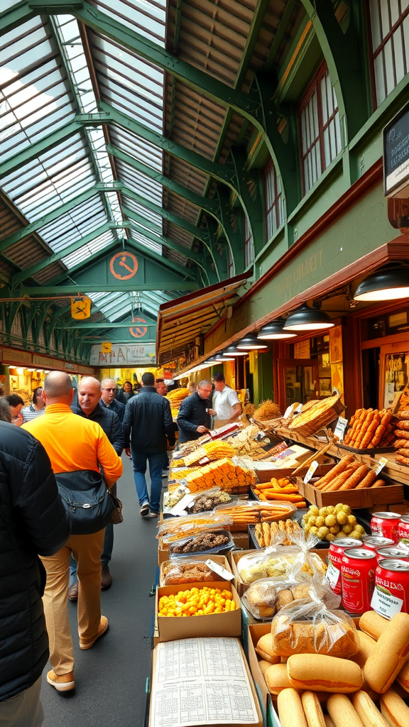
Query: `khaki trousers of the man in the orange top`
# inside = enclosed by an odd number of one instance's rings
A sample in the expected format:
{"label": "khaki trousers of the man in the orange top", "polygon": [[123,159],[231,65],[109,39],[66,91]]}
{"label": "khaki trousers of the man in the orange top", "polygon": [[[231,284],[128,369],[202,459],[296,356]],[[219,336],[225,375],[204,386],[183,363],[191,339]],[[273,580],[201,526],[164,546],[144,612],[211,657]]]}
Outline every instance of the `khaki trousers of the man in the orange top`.
{"label": "khaki trousers of the man in the orange top", "polygon": [[58,553],[41,558],[47,571],[43,603],[49,638],[49,660],[56,674],[74,670],[74,649],[68,617],[71,553],[76,559],[78,632],[81,638],[98,633],[101,618],[101,553],[105,529],[91,535],[71,535]]}

